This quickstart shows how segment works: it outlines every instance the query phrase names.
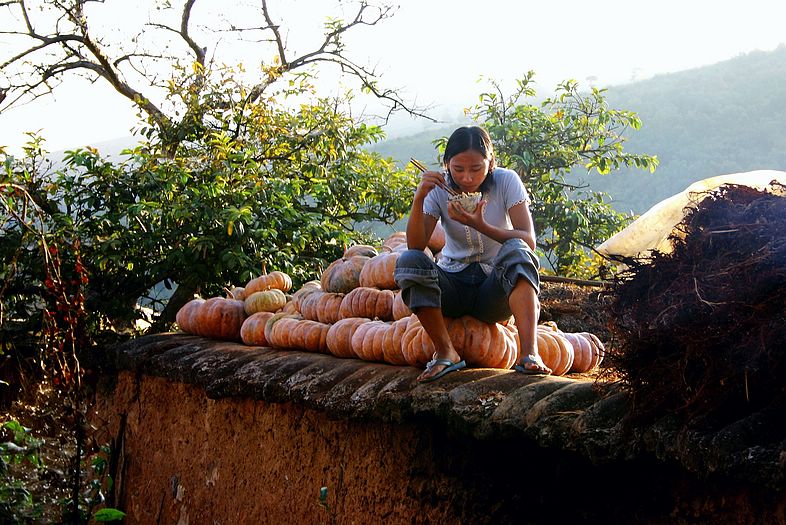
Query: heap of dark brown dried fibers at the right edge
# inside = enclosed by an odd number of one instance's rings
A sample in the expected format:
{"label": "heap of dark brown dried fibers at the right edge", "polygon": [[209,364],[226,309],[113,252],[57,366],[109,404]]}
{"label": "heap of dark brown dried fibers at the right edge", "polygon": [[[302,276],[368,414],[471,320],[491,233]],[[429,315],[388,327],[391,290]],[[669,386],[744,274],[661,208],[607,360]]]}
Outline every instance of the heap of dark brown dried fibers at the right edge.
{"label": "heap of dark brown dried fibers at the right edge", "polygon": [[609,328],[634,418],[714,427],[784,412],[784,189],[722,186],[694,203],[672,253],[625,261]]}

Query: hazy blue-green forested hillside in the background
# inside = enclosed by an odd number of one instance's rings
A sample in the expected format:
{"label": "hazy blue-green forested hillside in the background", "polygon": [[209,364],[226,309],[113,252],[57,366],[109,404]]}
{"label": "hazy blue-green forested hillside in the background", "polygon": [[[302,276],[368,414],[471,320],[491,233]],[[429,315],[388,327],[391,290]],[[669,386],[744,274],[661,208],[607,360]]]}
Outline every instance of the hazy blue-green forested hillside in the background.
{"label": "hazy blue-green forested hillside in the background", "polygon": [[[644,123],[628,134],[626,149],[660,159],[654,174],[576,174],[592,189],[611,195],[619,211],[643,213],[692,182],[715,175],[786,170],[786,45],[611,86],[606,95],[611,107],[635,111]],[[431,141],[457,125],[384,141],[373,149],[402,163],[410,156],[434,163]]]}

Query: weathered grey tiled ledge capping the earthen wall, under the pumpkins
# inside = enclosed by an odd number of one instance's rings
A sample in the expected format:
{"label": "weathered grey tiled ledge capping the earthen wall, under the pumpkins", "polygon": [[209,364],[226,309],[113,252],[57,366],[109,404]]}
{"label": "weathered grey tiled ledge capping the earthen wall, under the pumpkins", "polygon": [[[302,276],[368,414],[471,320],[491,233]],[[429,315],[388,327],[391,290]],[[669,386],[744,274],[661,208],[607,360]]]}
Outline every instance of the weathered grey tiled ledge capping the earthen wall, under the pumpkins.
{"label": "weathered grey tiled ledge capping the earthen wall, under the pumpkins", "polygon": [[182,333],[139,337],[108,354],[116,371],[195,385],[210,399],[291,402],[331,419],[425,421],[478,440],[524,438],[597,465],[654,457],[699,477],[784,489],[786,441],[767,442],[768,434],[779,435],[766,431],[778,425],[777,414],[754,414],[713,433],[681,428],[671,418],[625,431],[625,393],[586,379],[467,369],[419,384],[413,367]]}

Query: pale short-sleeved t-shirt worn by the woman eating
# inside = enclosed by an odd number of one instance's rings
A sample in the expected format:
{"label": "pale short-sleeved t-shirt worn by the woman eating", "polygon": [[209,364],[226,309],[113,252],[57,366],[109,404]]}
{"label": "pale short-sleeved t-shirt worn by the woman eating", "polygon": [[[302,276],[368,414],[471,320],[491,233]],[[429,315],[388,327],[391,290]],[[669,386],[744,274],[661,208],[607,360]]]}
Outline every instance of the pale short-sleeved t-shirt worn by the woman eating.
{"label": "pale short-sleeved t-shirt worn by the woman eating", "polygon": [[[529,205],[530,198],[518,174],[506,168],[496,168],[491,174],[494,183],[483,193],[486,208],[483,218],[498,228],[513,229],[508,210],[522,202]],[[478,262],[486,273],[497,255],[500,243],[448,216],[448,192],[436,187],[423,202],[423,213],[442,221],[445,229],[445,247],[439,259],[440,267],[449,272],[460,272],[470,263]]]}

